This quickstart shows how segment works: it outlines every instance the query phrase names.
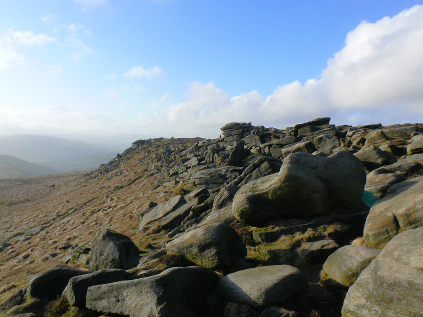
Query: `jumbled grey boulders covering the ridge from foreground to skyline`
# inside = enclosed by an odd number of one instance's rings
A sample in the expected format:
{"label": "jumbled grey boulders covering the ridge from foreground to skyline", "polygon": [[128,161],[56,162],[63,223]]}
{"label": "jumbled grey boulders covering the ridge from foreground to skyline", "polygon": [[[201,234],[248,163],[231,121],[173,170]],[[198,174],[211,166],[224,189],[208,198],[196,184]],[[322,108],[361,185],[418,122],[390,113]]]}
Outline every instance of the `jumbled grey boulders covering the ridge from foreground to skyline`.
{"label": "jumbled grey boulders covering the ridge from foreground to skyline", "polygon": [[179,190],[140,210],[148,243],[103,228],[63,258],[90,270],[41,271],[0,314],[62,300],[63,316],[423,316],[423,124],[221,130],[155,157],[151,190]]}

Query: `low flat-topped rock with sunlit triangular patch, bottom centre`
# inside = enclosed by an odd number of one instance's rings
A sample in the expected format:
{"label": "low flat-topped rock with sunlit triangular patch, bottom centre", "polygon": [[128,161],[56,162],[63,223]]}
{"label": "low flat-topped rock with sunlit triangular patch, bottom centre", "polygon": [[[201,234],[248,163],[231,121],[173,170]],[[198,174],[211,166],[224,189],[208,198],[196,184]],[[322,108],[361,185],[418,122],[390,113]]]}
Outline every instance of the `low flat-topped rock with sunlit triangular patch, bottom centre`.
{"label": "low flat-topped rock with sunlit triangular patch, bottom centre", "polygon": [[298,268],[269,265],[228,274],[219,281],[217,291],[226,301],[262,307],[301,294],[307,287]]}

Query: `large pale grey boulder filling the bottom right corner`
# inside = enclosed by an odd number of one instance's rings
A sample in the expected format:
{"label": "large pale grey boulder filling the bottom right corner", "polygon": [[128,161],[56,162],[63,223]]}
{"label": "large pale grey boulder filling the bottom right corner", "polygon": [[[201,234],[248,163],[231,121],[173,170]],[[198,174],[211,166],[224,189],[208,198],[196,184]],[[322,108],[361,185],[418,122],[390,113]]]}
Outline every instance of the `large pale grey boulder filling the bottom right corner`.
{"label": "large pale grey boulder filling the bottom right corner", "polygon": [[342,316],[420,316],[423,227],[394,236],[349,287]]}

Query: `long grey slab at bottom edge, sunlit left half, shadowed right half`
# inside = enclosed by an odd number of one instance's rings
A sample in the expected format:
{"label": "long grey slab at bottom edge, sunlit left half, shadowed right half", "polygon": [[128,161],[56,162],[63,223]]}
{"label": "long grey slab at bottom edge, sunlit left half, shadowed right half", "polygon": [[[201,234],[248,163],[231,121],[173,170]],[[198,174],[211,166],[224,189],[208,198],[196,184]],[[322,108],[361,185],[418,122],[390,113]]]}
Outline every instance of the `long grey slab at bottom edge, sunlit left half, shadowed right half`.
{"label": "long grey slab at bottom edge, sunlit left half, shadowed right half", "polygon": [[87,307],[130,317],[202,316],[218,280],[201,266],[173,267],[150,277],[91,286]]}

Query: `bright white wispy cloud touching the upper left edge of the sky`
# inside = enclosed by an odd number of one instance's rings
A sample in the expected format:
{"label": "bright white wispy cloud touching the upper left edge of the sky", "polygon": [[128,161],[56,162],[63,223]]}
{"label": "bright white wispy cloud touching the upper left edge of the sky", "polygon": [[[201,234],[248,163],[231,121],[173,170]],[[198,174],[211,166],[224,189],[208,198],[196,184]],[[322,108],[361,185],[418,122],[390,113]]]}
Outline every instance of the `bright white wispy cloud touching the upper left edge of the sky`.
{"label": "bright white wispy cloud touching the upper left edge of the sky", "polygon": [[19,52],[20,47],[43,46],[54,38],[46,34],[34,34],[33,31],[16,31],[8,28],[0,35],[0,69],[12,65],[22,65],[27,59]]}

